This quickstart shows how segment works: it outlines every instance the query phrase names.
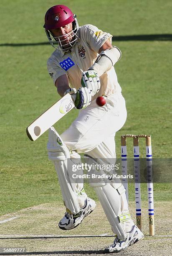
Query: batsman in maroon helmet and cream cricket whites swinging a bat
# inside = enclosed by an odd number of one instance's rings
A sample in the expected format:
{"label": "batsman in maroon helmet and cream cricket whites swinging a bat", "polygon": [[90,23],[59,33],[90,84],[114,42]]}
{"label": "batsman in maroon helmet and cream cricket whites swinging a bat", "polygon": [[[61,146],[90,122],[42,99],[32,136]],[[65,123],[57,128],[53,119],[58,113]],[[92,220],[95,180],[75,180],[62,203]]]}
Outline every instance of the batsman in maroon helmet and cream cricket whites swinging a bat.
{"label": "batsman in maroon helmet and cream cricket whites swinging a bat", "polygon": [[[104,159],[109,163],[116,157],[114,136],[126,121],[125,100],[114,70],[121,51],[112,46],[109,33],[93,25],[79,27],[76,15],[64,5],[47,10],[44,28],[55,48],[47,61],[48,72],[58,94],[72,95],[75,108],[80,110],[61,136],[53,127],[49,129],[47,144],[48,157],[55,166],[66,206],[58,226],[69,230],[76,228],[96,207],[83,189],[83,180],[71,179],[72,164],[81,162],[79,153],[84,153],[88,162]],[[96,104],[99,96],[105,97],[104,106]],[[82,174],[82,170],[78,170],[78,174]],[[90,185],[116,234],[105,251],[121,251],[142,239],[143,233],[129,214],[121,181],[97,179]]]}

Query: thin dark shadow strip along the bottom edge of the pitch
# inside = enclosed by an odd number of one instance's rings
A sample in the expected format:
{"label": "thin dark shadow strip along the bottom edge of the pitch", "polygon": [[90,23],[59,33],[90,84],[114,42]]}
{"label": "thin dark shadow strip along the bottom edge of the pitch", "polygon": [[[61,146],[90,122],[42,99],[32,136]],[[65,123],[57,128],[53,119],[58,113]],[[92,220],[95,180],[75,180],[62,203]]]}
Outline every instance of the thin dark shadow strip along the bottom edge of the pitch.
{"label": "thin dark shadow strip along the bottom edge of the pitch", "polygon": [[94,250],[89,250],[89,251],[30,251],[30,252],[23,252],[23,253],[5,253],[2,254],[0,253],[0,255],[50,255],[50,254],[106,254],[105,251],[103,250],[98,250],[98,251],[94,251]]}

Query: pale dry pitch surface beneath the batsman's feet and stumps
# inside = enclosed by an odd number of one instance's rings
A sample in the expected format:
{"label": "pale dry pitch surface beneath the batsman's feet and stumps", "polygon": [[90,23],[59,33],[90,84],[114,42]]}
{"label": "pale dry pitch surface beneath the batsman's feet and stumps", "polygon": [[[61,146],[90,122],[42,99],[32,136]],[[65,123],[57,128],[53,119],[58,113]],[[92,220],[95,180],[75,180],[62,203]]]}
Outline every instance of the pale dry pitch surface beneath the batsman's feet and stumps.
{"label": "pale dry pitch surface beneath the batsman's feet and stumps", "polygon": [[[147,202],[143,202],[142,206],[142,231],[145,237],[126,251],[119,252],[118,256],[172,255],[172,222],[169,219],[172,203],[155,202],[154,237],[149,236]],[[130,202],[129,210],[135,220],[134,202]],[[27,252],[22,253],[23,255],[103,255],[104,248],[113,242],[114,234],[100,203],[97,202],[94,212],[73,230],[58,228],[58,221],[64,211],[63,205],[54,203],[28,207],[0,216],[0,247],[25,247]],[[3,222],[4,220],[8,221]]]}

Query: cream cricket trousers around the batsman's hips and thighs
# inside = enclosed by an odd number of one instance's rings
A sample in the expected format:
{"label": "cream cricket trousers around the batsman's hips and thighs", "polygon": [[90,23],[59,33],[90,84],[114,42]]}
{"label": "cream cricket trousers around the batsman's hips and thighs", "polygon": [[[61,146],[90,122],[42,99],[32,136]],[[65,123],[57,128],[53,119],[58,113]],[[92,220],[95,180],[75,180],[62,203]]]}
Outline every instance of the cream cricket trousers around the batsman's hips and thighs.
{"label": "cream cricket trousers around the batsman's hips and thighs", "polygon": [[61,137],[71,151],[89,152],[94,158],[115,158],[114,136],[125,121],[125,100],[118,92],[108,96],[102,107],[93,100],[87,108],[80,110],[76,120]]}

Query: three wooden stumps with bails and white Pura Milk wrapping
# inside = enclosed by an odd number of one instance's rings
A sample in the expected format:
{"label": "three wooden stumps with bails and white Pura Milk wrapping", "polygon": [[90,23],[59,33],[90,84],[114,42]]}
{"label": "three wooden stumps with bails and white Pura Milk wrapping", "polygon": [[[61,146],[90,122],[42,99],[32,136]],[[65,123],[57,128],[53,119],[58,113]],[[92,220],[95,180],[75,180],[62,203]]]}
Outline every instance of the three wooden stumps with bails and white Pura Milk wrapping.
{"label": "three wooden stumps with bails and white Pura Milk wrapping", "polygon": [[[142,230],[142,209],[141,209],[140,166],[139,166],[139,138],[146,139],[149,236],[154,236],[154,200],[153,200],[153,182],[152,182],[151,136],[143,135],[143,134],[142,135],[133,135],[133,134],[121,135],[121,160],[122,160],[123,175],[127,175],[126,138],[133,138],[136,221],[137,221],[137,226],[140,230]],[[127,182],[127,179],[123,179],[122,181],[126,189],[126,200],[128,202],[128,182]]]}

